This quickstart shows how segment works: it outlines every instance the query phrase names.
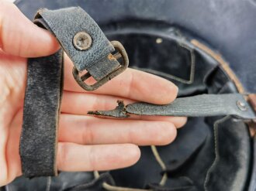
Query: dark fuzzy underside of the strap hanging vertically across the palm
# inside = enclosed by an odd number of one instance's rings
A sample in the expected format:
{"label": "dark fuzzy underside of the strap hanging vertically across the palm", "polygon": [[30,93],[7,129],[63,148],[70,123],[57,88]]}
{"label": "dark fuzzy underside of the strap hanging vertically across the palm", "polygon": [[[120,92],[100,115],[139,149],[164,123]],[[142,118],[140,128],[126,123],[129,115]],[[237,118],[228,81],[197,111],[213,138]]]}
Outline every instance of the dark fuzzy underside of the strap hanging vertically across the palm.
{"label": "dark fuzzy underside of the strap hanging vertically across the palm", "polygon": [[28,60],[19,154],[22,173],[56,176],[57,128],[63,89],[63,52]]}

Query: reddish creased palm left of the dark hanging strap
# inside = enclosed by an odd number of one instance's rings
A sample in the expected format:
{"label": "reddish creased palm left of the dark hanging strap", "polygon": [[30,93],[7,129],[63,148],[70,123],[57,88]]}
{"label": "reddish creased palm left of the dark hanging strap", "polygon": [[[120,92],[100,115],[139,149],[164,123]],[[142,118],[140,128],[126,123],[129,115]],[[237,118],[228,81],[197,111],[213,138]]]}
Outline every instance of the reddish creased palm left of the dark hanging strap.
{"label": "reddish creased palm left of the dark hanging strap", "polygon": [[[19,135],[26,59],[0,52],[0,185],[20,175]],[[17,168],[19,167],[19,168]]]}

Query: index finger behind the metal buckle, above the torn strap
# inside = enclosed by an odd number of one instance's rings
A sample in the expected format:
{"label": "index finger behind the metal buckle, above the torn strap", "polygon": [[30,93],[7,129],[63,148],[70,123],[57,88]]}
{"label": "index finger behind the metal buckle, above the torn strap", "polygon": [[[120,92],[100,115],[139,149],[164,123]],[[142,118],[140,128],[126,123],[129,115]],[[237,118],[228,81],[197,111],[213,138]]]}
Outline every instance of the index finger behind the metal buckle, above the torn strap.
{"label": "index finger behind the metal buckle, above the torn strap", "polygon": [[[74,80],[71,60],[65,56],[64,62],[64,90],[85,92]],[[128,68],[93,93],[126,97],[152,104],[168,104],[175,100],[178,87],[161,77]]]}

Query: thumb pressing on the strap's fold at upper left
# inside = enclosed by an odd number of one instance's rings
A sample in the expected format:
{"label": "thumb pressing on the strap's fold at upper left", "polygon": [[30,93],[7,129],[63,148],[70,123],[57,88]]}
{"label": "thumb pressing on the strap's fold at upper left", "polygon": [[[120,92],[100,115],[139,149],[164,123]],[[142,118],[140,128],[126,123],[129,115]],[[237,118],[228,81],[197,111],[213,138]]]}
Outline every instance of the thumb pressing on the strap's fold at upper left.
{"label": "thumb pressing on the strap's fold at upper left", "polygon": [[57,39],[29,21],[11,2],[0,0],[0,48],[14,56],[39,57],[59,49]]}

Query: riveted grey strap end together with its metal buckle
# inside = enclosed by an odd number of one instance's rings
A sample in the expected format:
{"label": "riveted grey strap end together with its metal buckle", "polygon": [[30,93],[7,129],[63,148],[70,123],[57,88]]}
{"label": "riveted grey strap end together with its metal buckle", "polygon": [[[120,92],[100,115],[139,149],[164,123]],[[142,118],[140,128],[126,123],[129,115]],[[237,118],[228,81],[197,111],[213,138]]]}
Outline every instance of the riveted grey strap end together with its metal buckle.
{"label": "riveted grey strap end together with its metal buckle", "polygon": [[[74,63],[74,79],[85,90],[98,89],[128,67],[128,56],[122,44],[117,41],[110,43],[97,23],[80,7],[54,11],[40,9],[35,19],[57,37]],[[116,49],[122,55],[123,63],[112,56]],[[88,73],[81,78],[79,73],[83,70]],[[85,84],[84,80],[88,77],[93,77],[97,82]]]}

